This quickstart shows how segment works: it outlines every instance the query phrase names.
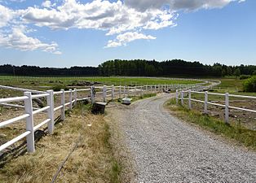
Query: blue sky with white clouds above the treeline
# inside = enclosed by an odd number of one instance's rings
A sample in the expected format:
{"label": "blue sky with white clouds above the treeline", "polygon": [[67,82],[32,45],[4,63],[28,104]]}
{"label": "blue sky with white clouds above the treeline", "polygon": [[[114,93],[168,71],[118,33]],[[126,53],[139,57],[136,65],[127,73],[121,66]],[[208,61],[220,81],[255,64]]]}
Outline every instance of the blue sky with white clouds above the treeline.
{"label": "blue sky with white clouds above the treeline", "polygon": [[0,64],[256,65],[255,0],[0,0]]}

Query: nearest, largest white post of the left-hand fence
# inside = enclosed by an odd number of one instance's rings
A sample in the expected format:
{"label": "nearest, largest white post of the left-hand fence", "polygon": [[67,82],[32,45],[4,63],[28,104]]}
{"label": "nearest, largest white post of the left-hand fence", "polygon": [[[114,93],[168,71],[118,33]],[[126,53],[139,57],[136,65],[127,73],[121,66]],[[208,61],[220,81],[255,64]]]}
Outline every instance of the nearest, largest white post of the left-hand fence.
{"label": "nearest, largest white post of the left-hand fence", "polygon": [[29,114],[29,117],[26,118],[26,131],[31,133],[26,137],[27,139],[27,150],[28,152],[33,153],[35,151],[35,142],[34,142],[34,132],[33,132],[33,104],[31,92],[24,92],[24,96],[28,98],[24,100],[25,112]]}

